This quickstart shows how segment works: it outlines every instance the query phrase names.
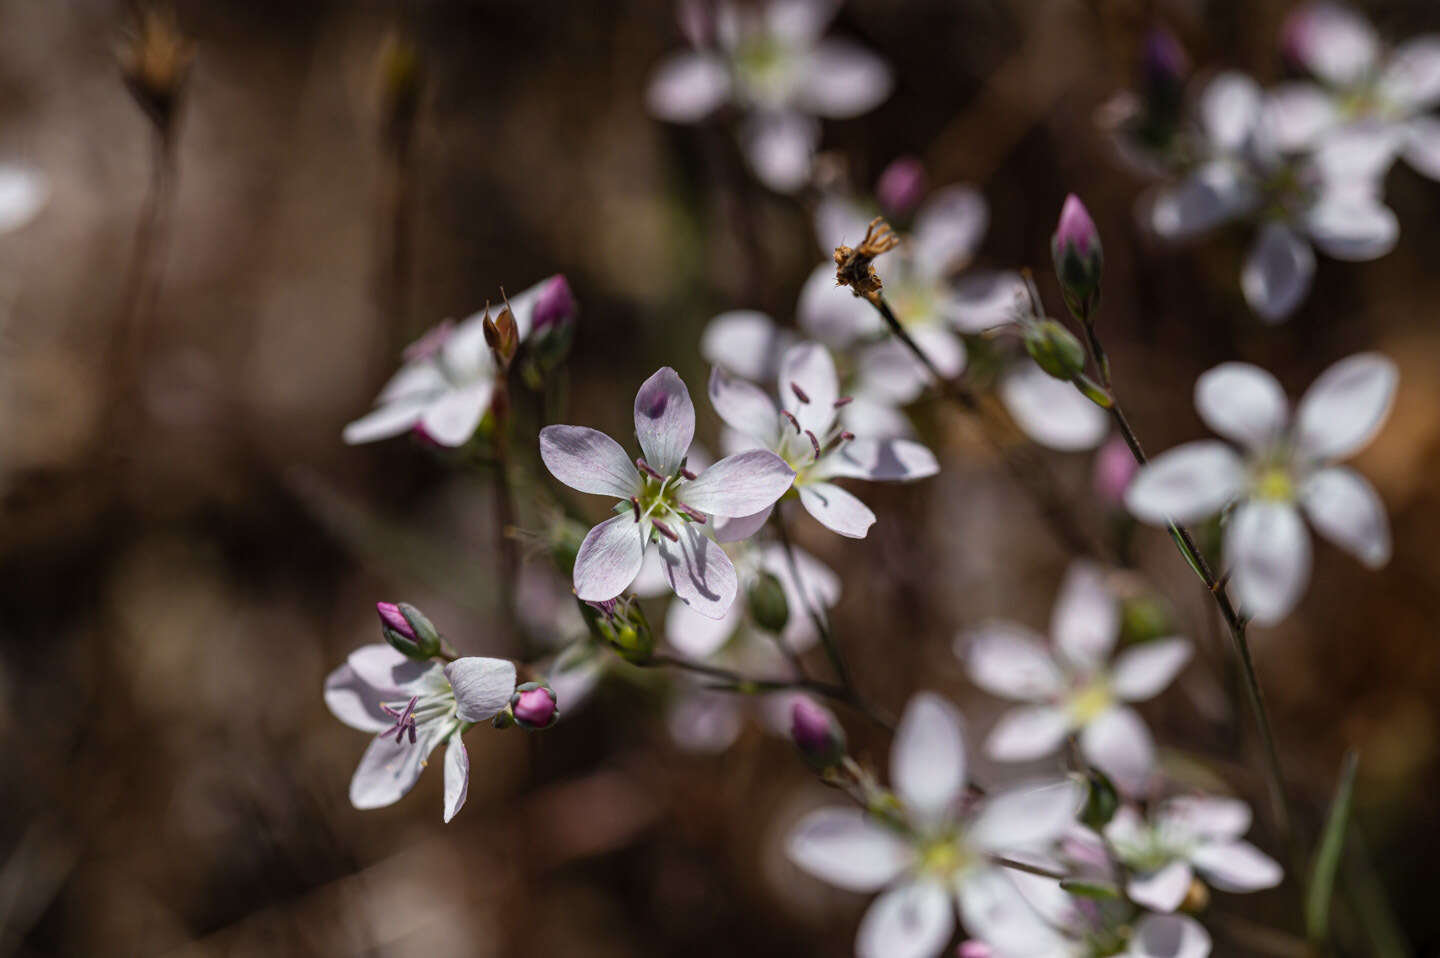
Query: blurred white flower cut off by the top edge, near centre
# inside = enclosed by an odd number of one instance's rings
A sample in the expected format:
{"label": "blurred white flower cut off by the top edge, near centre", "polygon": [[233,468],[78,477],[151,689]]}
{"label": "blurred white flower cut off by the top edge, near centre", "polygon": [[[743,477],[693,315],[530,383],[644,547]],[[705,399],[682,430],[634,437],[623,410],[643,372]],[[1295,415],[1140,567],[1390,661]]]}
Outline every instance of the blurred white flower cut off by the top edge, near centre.
{"label": "blurred white flower cut off by the top edge, near centre", "polygon": [[[893,85],[874,53],[822,36],[838,7],[838,0],[717,0],[713,19],[683,22],[693,49],[655,68],[647,107],[661,120],[698,122],[733,104],[744,114],[740,143],[756,176],[770,189],[798,190],[819,143],[815,117],[858,117]],[[696,9],[683,4],[681,13]]]}

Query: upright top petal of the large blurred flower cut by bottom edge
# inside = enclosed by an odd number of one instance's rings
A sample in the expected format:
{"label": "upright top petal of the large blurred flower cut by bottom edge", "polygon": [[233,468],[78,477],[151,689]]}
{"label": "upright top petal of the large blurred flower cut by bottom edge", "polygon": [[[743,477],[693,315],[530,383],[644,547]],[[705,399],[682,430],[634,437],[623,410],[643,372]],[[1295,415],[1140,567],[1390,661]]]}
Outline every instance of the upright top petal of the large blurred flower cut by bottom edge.
{"label": "upright top petal of the large blurred flower cut by bottom edge", "polygon": [[910,697],[890,746],[890,784],[922,818],[945,815],[965,788],[963,719],[935,694]]}

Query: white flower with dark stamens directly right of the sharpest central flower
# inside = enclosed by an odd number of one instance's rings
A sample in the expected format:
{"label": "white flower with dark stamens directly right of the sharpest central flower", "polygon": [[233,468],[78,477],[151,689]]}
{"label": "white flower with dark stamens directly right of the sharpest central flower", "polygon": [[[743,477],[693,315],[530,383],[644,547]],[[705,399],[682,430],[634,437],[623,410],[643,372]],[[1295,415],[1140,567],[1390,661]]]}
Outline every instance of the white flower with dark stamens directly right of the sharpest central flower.
{"label": "white flower with dark stamens directly right of the sharpest central flower", "polygon": [[[733,448],[772,451],[795,471],[795,491],[811,516],[832,532],[863,539],[876,514],[835,485],[834,478],[910,481],[935,475],[935,454],[910,439],[855,438],[838,422],[845,403],[840,395],[835,362],[824,346],[802,343],[780,360],[780,408],[757,386],[734,379],[723,369],[710,375],[710,403],[736,435]],[[770,504],[733,523],[734,537],[759,529]],[[743,534],[742,534],[743,532]]]}

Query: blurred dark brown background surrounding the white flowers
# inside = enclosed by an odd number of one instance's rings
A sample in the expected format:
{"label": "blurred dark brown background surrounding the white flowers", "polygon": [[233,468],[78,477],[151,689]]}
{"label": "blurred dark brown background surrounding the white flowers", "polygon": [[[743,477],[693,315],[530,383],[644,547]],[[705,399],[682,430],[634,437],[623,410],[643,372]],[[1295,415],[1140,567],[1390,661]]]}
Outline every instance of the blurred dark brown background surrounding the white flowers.
{"label": "blurred dark brown background surrounding the white flowers", "polygon": [[[1390,37],[1440,29],[1430,3],[1364,6]],[[1264,328],[1236,282],[1243,235],[1148,241],[1142,183],[1094,124],[1156,20],[1198,65],[1273,81],[1286,7],[852,0],[835,29],[897,88],[824,146],[858,187],[900,154],[978,184],[981,262],[1035,265],[1053,308],[1048,235],[1081,193],[1116,377],[1155,448],[1202,435],[1189,388],[1220,360],[1293,395],[1361,349],[1400,364],[1359,460],[1394,560],[1371,573],[1319,546],[1300,609],[1254,643],[1308,833],[1342,752],[1362,756],[1346,954],[1380,954],[1372,935],[1434,954],[1440,186],[1397,166],[1395,252],[1322,261],[1299,314]],[[649,69],[683,43],[668,0],[181,1],[194,63],[158,180],[117,59],[130,22],[107,0],[0,3],[0,153],[52,186],[0,238],[0,955],[848,954],[863,900],[776,844],[834,795],[757,728],[687,753],[664,686],[621,679],[544,735],[472,733],[469,805],[444,827],[433,772],[393,808],[350,808],[364,739],[320,696],[376,641],[382,598],[462,651],[534,651],[505,627],[488,475],[409,441],[340,442],[406,341],[562,271],[583,310],[567,421],[626,435],[644,376],[672,364],[700,392],[704,323],[789,323],[824,256],[814,196],[752,183],[720,128],[645,115]],[[937,405],[916,421],[937,478],[867,493],[881,521],[863,542],[796,534],[845,578],[835,618],[868,694],[897,712],[939,689],[984,729],[996,703],[950,640],[992,615],[1043,627],[1067,555],[972,424]],[[533,439],[517,457],[549,483]],[[1092,458],[1045,458],[1110,534]],[[1164,534],[1135,556],[1202,648],[1148,717],[1171,761],[1263,807],[1205,596]],[[884,738],[850,726],[883,766]],[[1263,811],[1257,836],[1274,847]],[[1303,954],[1293,883],[1218,910],[1217,954]]]}

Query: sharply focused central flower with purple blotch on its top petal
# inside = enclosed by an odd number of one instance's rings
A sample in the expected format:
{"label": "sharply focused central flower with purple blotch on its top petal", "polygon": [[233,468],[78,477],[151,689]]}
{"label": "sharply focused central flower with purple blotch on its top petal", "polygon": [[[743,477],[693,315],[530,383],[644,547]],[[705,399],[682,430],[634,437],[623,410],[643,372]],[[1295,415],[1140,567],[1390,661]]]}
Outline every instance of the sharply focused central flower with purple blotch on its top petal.
{"label": "sharply focused central flower with purple blotch on its top petal", "polygon": [[[616,516],[590,530],[575,559],[575,592],[603,602],[624,592],[654,542],[670,588],[710,618],[720,618],[736,595],[736,573],[724,550],[701,529],[713,517],[768,510],[795,480],[773,452],[753,449],[696,473],[685,467],[696,434],[690,390],[665,366],[635,395],[635,434],[645,457],[631,462],[621,445],[585,426],[546,426],[540,458],[570,488],[619,500]],[[734,530],[734,539],[749,534]],[[720,539],[730,539],[724,530]]]}

